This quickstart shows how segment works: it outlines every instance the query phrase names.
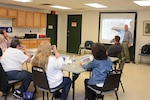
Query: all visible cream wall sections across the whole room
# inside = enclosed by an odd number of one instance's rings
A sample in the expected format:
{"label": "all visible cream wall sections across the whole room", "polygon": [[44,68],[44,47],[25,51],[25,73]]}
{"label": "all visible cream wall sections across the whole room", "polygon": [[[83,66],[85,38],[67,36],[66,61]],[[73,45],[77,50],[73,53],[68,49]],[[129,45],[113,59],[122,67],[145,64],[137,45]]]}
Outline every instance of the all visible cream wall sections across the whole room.
{"label": "all visible cream wall sections across the whole room", "polygon": [[[25,7],[18,7],[18,6],[8,6],[8,5],[1,5],[3,7],[11,7],[11,8],[19,8],[24,10],[31,10],[31,11],[40,11],[40,12],[49,12],[39,9],[31,9]],[[116,12],[116,11],[114,11]],[[67,44],[67,15],[75,15],[75,14],[82,14],[82,35],[81,35],[81,42],[84,43],[85,40],[92,40],[94,42],[98,41],[98,29],[99,29],[99,11],[79,11],[79,12],[57,12],[58,14],[58,49],[66,51],[66,44]],[[142,45],[146,43],[150,43],[150,36],[143,36],[143,21],[150,21],[150,11],[149,10],[138,10],[137,11],[137,34],[136,34],[136,49],[135,49],[135,61],[139,61],[138,53],[140,52],[140,48]],[[46,29],[37,29],[37,28],[17,28],[13,27],[13,33],[10,34],[11,36],[19,35],[22,36],[25,33],[46,33]],[[143,58],[143,62],[149,62],[149,59]]]}

